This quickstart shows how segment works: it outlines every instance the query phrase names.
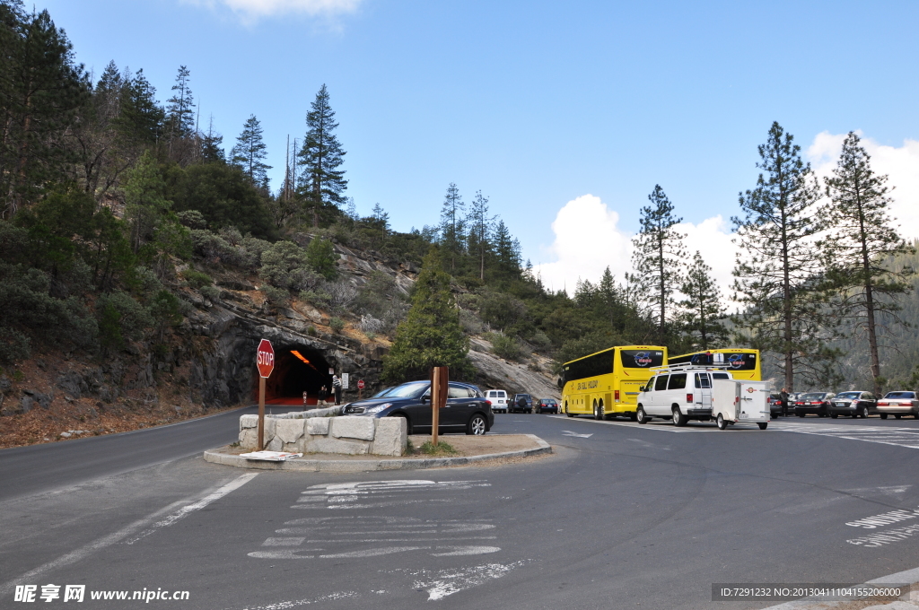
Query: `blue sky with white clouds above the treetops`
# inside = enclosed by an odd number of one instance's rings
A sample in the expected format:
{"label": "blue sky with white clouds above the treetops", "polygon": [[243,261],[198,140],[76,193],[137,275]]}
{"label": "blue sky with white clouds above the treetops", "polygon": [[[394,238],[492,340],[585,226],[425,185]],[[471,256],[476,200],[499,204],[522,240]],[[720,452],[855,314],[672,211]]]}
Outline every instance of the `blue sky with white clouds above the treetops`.
{"label": "blue sky with white clouds above the treetops", "polygon": [[[30,5],[31,6],[31,5]],[[505,220],[550,288],[630,270],[661,185],[726,288],[738,193],[773,121],[828,175],[845,133],[890,175],[919,236],[919,3],[847,0],[36,0],[96,74],[180,65],[227,149],[251,114],[278,186],[327,85],[347,196],[397,231],[436,224],[449,183]]]}

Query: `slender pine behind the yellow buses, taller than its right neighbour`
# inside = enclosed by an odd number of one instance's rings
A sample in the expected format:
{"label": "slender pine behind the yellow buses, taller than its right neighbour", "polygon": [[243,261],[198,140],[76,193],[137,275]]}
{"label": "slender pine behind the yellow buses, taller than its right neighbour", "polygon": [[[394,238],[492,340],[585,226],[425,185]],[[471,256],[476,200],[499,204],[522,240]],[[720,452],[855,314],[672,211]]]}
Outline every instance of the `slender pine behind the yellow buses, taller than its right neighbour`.
{"label": "slender pine behind the yellow buses, taller than its right neighbour", "polygon": [[657,340],[666,345],[668,327],[673,314],[673,294],[680,285],[680,268],[686,258],[683,247],[685,234],[676,232],[674,226],[683,221],[674,216],[674,206],[660,185],[655,185],[648,199],[652,206],[641,209],[641,230],[632,239],[635,250],[632,266],[635,268],[649,309],[657,319]]}

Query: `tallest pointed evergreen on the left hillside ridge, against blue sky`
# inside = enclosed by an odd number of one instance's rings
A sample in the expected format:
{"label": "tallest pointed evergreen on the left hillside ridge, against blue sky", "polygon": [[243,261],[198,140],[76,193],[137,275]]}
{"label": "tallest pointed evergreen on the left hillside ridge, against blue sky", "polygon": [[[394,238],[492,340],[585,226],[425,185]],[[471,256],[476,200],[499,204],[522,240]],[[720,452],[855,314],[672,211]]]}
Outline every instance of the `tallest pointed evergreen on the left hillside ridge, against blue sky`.
{"label": "tallest pointed evergreen on the left hillside ridge, against blue sky", "polygon": [[345,200],[347,180],[345,171],[339,167],[346,153],[335,136],[338,123],[335,111],[329,106],[325,85],[316,94],[311,107],[306,115],[306,138],[297,156],[303,167],[300,188],[306,209],[312,214],[313,226],[319,226],[320,212],[337,209]]}

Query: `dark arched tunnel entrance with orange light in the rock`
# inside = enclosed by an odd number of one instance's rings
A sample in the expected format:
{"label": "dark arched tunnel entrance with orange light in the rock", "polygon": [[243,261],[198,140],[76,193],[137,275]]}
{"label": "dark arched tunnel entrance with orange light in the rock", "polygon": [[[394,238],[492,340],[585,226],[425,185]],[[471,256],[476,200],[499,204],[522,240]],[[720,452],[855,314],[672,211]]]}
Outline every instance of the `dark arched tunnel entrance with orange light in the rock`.
{"label": "dark arched tunnel entrance with orange light in the rock", "polygon": [[[258,400],[258,371],[255,371],[255,400]],[[306,345],[275,348],[275,369],[265,383],[265,401],[271,404],[315,405],[320,388],[332,389],[329,363],[322,353]]]}

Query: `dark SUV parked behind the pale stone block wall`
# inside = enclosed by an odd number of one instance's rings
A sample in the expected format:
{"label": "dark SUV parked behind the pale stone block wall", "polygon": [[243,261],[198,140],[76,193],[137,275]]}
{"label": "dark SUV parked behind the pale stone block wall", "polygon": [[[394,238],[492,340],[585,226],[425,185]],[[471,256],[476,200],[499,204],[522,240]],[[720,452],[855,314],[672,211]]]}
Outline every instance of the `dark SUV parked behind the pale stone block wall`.
{"label": "dark SUV parked behind the pale stone block wall", "polygon": [[[409,381],[396,386],[381,398],[355,401],[346,405],[345,415],[404,417],[408,434],[431,432],[431,382]],[[476,386],[450,381],[447,405],[440,410],[440,434],[465,432],[483,435],[494,425],[491,405]]]}

